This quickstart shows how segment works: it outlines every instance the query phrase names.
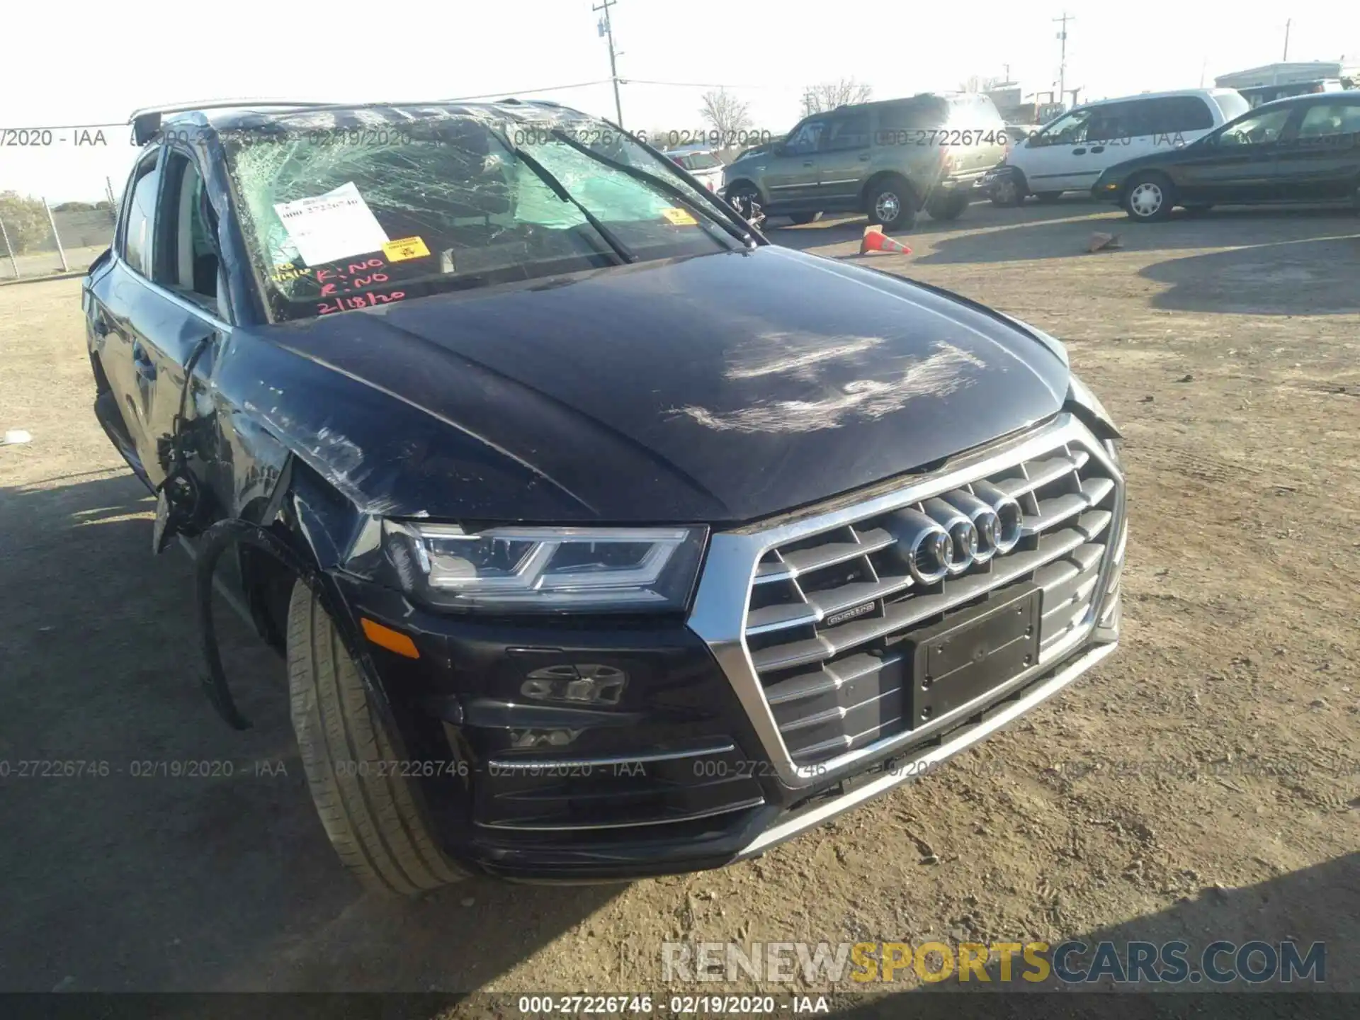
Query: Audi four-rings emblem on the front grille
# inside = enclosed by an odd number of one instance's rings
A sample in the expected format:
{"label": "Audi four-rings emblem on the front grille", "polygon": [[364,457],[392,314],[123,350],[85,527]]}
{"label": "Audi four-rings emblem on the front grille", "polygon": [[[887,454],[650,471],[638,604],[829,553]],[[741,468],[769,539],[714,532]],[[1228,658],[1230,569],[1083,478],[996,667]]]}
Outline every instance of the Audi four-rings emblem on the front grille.
{"label": "Audi four-rings emblem on the front grille", "polygon": [[963,574],[1020,541],[1020,505],[987,481],[896,511],[891,530],[911,577],[925,585]]}

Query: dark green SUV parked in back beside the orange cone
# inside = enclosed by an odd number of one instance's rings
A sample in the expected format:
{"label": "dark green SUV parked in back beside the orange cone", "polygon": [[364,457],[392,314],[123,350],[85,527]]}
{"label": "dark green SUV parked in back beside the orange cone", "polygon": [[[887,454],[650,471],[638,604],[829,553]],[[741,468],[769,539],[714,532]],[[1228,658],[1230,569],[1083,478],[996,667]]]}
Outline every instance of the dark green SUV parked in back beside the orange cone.
{"label": "dark green SUV parked in back beside the orange cone", "polygon": [[805,117],[766,151],[741,154],[724,171],[724,193],[794,223],[866,212],[904,231],[921,209],[956,219],[983,197],[976,185],[1005,147],[1005,124],[981,94],[838,106]]}

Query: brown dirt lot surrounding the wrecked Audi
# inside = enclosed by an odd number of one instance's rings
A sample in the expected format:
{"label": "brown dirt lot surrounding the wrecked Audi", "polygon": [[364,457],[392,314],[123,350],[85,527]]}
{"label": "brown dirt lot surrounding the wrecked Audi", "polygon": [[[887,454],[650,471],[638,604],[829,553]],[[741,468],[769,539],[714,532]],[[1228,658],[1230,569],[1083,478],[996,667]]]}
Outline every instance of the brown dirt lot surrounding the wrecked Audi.
{"label": "brown dirt lot surrounding the wrecked Audi", "polygon": [[[862,226],[771,237],[847,256]],[[1098,228],[1123,249],[1085,254]],[[874,265],[1062,337],[1125,427],[1121,651],[763,860],[415,903],[341,872],[275,661],[237,660],[245,734],[201,696],[188,560],[150,555],[90,411],[79,280],[0,288],[0,428],[34,437],[0,447],[0,759],[110,766],[0,778],[0,989],[628,990],[658,987],[665,938],[1078,936],[1322,940],[1327,987],[1360,990],[1360,219],[975,205],[908,242]]]}

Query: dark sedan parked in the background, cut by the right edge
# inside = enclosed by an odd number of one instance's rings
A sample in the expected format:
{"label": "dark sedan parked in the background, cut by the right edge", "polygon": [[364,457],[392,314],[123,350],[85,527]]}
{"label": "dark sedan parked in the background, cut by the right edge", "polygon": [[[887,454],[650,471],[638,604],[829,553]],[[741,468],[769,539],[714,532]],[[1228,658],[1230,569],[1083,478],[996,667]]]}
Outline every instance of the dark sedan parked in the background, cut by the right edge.
{"label": "dark sedan parked in the background, cut by the right edge", "polygon": [[1257,106],[1185,148],[1106,170],[1096,199],[1140,223],[1183,205],[1349,201],[1360,208],[1360,92],[1319,92]]}

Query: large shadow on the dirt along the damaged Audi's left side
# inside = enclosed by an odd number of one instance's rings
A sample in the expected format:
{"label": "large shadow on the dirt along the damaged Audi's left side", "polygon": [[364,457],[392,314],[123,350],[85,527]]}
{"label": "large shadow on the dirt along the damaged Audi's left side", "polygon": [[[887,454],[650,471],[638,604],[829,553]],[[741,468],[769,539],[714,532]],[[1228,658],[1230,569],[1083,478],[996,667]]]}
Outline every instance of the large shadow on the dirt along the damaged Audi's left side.
{"label": "large shadow on the dirt along the damaged Audi's left side", "polygon": [[230,730],[146,490],[67,481],[0,491],[0,990],[476,989],[623,888],[364,894],[307,794],[280,660],[219,608],[254,722]]}

